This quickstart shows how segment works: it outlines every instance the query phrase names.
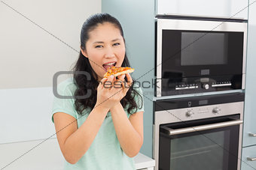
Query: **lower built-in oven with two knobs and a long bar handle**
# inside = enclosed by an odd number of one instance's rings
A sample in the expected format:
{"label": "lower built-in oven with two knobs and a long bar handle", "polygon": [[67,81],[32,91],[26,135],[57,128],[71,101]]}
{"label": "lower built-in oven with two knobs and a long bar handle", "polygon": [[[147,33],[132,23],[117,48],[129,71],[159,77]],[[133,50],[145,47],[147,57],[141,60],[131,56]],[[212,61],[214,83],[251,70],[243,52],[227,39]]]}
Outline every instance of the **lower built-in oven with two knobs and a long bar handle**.
{"label": "lower built-in oven with two knobs and a long bar handle", "polygon": [[154,102],[154,159],[160,170],[239,170],[244,94]]}

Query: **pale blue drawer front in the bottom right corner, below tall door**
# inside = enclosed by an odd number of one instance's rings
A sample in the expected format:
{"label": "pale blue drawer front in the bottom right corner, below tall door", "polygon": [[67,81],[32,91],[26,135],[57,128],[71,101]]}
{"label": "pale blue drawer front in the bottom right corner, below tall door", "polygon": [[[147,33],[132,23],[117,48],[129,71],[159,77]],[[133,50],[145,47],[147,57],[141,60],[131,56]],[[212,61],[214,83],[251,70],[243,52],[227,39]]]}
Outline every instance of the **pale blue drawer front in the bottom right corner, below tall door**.
{"label": "pale blue drawer front in the bottom right corner, below tall door", "polygon": [[251,146],[247,148],[242,148],[242,160],[241,160],[241,170],[255,170],[256,160],[251,161],[248,158],[256,158],[256,146]]}

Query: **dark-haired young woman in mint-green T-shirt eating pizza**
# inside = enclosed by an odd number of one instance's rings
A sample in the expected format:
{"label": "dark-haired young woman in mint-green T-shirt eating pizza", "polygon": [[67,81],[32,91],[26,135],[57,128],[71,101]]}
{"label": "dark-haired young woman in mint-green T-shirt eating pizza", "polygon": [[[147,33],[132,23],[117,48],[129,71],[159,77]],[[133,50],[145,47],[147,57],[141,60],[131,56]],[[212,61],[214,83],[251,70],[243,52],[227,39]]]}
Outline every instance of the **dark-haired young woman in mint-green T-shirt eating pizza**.
{"label": "dark-haired young woman in mint-green T-shirt eating pizza", "polygon": [[129,73],[103,79],[113,65],[130,67],[120,22],[108,13],[90,16],[81,29],[74,77],[58,85],[60,95],[73,98],[53,102],[65,169],[135,169],[133,157],[143,143],[142,90]]}

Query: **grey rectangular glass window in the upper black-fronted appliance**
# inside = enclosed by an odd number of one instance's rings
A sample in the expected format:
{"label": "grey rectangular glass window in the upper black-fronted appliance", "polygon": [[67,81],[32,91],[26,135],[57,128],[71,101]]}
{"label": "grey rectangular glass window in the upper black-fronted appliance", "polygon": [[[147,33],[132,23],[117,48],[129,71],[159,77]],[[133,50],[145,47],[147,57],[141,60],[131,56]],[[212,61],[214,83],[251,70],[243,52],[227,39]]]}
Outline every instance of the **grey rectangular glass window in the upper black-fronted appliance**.
{"label": "grey rectangular glass window in the upper black-fronted appliance", "polygon": [[181,32],[181,66],[227,64],[228,33]]}

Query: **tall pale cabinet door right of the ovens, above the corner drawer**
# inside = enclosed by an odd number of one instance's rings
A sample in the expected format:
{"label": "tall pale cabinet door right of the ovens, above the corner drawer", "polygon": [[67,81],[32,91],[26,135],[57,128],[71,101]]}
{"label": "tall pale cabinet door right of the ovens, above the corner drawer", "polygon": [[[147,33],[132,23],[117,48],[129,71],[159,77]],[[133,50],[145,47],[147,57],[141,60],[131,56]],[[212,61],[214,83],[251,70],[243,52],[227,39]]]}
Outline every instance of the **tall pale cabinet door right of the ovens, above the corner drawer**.
{"label": "tall pale cabinet door right of the ovens, above the corner drawer", "polygon": [[[251,0],[252,2],[252,0]],[[243,146],[256,145],[256,4],[249,7]]]}

